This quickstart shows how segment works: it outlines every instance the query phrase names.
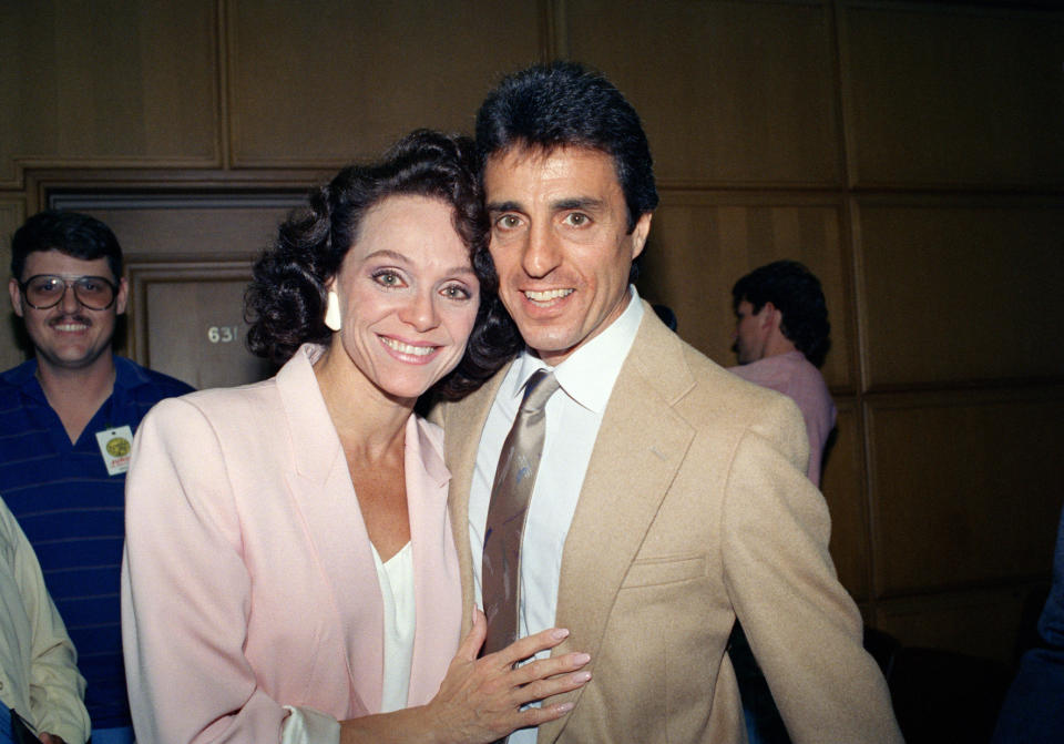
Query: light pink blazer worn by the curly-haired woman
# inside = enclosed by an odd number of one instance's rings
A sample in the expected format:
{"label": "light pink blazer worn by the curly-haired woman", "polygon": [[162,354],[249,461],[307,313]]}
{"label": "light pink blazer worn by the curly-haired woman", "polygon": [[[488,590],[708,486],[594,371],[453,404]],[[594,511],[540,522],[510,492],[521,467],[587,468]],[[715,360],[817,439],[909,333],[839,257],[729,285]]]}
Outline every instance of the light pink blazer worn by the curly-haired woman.
{"label": "light pink blazer worn by the curly-haired woman", "polygon": [[[122,634],[136,737],[277,742],[287,711],[380,709],[383,609],[339,438],[304,346],[273,379],[144,418],[126,480]],[[411,417],[417,630],[409,704],[461,632],[442,432]]]}

